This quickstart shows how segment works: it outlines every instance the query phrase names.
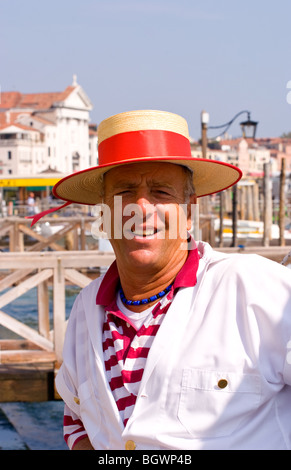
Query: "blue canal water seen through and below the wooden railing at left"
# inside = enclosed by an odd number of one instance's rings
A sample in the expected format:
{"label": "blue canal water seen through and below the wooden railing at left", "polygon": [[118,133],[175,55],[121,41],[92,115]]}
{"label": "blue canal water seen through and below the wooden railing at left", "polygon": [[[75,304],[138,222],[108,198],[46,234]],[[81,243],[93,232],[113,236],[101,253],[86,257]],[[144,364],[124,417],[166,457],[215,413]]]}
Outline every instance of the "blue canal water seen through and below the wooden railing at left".
{"label": "blue canal water seen through and below the wooden railing at left", "polygon": [[[66,288],[68,317],[80,288]],[[53,292],[49,290],[50,321],[53,321]],[[2,308],[2,311],[37,329],[37,288],[23,294]],[[1,339],[17,339],[17,335],[0,326]],[[0,450],[67,450],[63,439],[62,401],[0,403]]]}

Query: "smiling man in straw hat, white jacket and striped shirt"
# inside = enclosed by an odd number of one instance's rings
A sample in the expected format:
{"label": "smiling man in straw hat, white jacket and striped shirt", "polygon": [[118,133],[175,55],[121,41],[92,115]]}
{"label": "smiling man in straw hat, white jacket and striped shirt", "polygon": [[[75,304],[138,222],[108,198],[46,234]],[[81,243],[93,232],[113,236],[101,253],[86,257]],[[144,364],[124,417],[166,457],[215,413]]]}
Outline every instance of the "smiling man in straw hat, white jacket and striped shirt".
{"label": "smiling man in straw hat, white jacket and striped shirt", "polygon": [[103,204],[116,255],[69,319],[56,378],[69,448],[290,449],[291,272],[188,233],[196,198],[240,170],[192,158],[171,113],[98,131],[100,165],[54,188]]}

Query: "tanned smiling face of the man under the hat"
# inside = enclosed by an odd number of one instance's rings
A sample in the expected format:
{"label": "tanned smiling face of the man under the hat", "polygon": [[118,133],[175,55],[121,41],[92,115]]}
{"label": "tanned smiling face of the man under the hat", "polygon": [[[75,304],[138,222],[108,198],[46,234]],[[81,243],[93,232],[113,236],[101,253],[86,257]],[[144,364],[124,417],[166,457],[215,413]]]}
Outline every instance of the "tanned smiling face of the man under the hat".
{"label": "tanned smiling face of the man under the hat", "polygon": [[183,168],[172,163],[134,163],[105,174],[104,203],[110,208],[112,230],[119,217],[116,201],[121,202],[120,237],[111,236],[119,266],[158,272],[173,257],[185,256],[181,244],[191,226],[190,204],[186,215],[182,210],[185,182]]}

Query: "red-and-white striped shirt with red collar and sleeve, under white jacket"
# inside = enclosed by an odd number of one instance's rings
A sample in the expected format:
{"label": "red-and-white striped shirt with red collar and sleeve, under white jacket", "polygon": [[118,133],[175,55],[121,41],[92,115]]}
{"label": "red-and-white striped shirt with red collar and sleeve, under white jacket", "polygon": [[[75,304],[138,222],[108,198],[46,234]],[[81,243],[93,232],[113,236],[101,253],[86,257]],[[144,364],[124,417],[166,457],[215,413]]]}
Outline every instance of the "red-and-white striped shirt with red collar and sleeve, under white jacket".
{"label": "red-and-white striped shirt with red collar and sleeve, under white jacket", "polygon": [[[170,292],[153,307],[134,313],[122,304],[117,290],[119,275],[114,262],[100,285],[96,303],[104,306],[103,353],[107,379],[124,425],[137,398],[146,359],[155,335],[167,313],[175,292],[196,284],[197,249],[178,273]],[[137,320],[137,321],[136,321]],[[69,448],[87,436],[80,418],[65,405],[64,438]]]}

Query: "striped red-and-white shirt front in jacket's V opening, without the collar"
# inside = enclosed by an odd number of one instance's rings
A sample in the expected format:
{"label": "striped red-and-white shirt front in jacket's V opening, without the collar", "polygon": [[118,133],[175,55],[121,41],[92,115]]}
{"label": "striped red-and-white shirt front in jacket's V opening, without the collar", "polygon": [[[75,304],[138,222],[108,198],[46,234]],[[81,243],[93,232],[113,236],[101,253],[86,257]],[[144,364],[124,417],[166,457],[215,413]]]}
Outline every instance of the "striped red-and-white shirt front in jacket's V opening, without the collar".
{"label": "striped red-and-white shirt front in jacket's V opening, without the collar", "polygon": [[[107,379],[124,425],[137,398],[146,359],[171,304],[173,293],[146,310],[145,322],[136,329],[124,308],[107,311],[103,326],[103,352]],[[144,312],[141,312],[143,314]],[[118,319],[118,320],[117,320]]]}

